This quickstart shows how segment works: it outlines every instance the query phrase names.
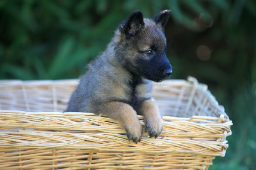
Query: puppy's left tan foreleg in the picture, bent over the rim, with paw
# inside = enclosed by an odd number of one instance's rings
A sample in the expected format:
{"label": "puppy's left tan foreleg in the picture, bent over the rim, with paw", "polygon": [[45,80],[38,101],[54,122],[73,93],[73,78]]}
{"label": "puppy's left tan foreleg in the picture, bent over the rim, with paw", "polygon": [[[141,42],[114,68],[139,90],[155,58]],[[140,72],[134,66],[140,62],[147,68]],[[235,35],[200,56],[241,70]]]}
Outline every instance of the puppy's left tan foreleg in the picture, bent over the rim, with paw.
{"label": "puppy's left tan foreleg in the picture, bent over the rim, with paw", "polygon": [[103,114],[106,114],[109,118],[113,118],[116,121],[122,123],[126,130],[126,135],[129,140],[138,143],[141,141],[142,127],[136,111],[131,105],[123,102],[109,102],[101,109]]}

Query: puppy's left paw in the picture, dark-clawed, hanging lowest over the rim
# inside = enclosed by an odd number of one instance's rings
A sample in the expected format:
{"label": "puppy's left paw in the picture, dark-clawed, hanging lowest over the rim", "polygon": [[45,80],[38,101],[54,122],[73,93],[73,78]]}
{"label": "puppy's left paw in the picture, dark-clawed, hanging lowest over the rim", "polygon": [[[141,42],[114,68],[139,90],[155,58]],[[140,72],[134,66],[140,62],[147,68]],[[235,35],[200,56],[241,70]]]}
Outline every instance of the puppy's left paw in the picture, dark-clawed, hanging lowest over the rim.
{"label": "puppy's left paw in the picture, dark-clawed, hanging lowest over the rim", "polygon": [[140,121],[137,123],[131,123],[130,125],[125,126],[126,135],[130,140],[134,141],[134,143],[138,143],[141,141],[141,135],[142,135],[142,127],[140,124]]}

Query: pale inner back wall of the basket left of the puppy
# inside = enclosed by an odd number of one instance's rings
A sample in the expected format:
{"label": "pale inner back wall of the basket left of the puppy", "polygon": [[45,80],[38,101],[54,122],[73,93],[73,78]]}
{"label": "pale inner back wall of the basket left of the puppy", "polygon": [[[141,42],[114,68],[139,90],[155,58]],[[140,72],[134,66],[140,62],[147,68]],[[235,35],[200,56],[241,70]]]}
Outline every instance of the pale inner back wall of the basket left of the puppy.
{"label": "pale inner back wall of the basket left of the puppy", "polygon": [[[78,81],[0,82],[0,110],[60,111],[67,108]],[[1,84],[2,83],[2,84]],[[8,86],[10,84],[10,86]]]}

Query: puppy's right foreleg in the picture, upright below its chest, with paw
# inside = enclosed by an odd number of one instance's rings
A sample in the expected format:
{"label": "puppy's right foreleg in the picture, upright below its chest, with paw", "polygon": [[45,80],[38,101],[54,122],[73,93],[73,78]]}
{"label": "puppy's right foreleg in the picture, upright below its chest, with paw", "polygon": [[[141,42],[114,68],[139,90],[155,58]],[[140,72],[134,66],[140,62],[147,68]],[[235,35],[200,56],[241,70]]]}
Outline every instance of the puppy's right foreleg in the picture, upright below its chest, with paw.
{"label": "puppy's right foreleg in the picture, upright below its chest, with paw", "polygon": [[138,112],[144,116],[145,130],[149,137],[155,137],[163,130],[163,120],[161,119],[158,106],[153,100],[144,100],[138,109]]}

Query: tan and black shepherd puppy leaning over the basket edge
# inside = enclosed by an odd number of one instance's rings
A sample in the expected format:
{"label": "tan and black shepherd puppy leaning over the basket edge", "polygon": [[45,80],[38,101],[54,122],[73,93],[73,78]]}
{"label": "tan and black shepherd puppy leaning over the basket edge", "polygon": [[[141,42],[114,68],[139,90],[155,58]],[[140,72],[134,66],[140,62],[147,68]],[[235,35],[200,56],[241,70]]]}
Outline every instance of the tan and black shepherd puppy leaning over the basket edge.
{"label": "tan and black shepherd puppy leaning over the basket edge", "polygon": [[129,140],[141,141],[137,114],[145,116],[145,131],[157,137],[163,130],[159,108],[151,98],[152,81],[170,77],[163,28],[170,10],[155,19],[134,11],[115,31],[107,49],[88,65],[68,102],[68,112],[104,114],[122,123]]}

